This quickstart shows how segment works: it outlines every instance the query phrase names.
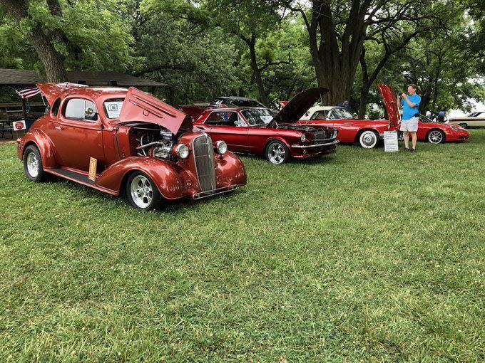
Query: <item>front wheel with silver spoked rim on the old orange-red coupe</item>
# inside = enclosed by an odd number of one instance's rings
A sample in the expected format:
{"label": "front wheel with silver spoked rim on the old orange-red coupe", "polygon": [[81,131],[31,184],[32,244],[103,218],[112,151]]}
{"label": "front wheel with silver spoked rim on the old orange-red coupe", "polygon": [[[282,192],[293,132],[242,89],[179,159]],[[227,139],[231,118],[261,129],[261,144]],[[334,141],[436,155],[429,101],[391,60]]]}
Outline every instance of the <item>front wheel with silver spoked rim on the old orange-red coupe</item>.
{"label": "front wheel with silver spoked rim on the old orange-red coupe", "polygon": [[161,195],[152,179],[143,172],[133,172],[126,181],[126,198],[138,211],[151,211],[161,201]]}

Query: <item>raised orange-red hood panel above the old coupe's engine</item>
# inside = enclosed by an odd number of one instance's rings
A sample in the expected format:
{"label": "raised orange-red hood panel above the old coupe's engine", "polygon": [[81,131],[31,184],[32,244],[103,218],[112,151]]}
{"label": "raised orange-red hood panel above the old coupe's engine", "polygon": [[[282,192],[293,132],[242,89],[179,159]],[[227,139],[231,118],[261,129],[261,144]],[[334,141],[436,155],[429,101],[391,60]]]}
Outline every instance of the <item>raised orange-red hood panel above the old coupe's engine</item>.
{"label": "raised orange-red hood panel above the old coupe's engine", "polygon": [[120,111],[119,122],[141,121],[156,124],[176,135],[178,130],[192,130],[192,118],[150,93],[128,88]]}

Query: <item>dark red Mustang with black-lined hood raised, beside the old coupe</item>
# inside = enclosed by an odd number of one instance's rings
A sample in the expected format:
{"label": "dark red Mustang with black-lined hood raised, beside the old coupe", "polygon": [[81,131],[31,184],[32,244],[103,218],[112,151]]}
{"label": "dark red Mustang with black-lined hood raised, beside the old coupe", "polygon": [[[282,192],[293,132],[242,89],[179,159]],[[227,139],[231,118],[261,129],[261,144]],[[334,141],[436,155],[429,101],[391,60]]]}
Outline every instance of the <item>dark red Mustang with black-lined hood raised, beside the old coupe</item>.
{"label": "dark red Mustang with black-lined hood raised, beside the old coupe", "polygon": [[296,125],[325,92],[325,88],[305,90],[277,113],[266,107],[181,106],[181,109],[193,116],[195,130],[207,132],[215,141],[224,140],[233,152],[265,155],[272,164],[282,164],[290,157],[317,157],[335,152],[335,128]]}

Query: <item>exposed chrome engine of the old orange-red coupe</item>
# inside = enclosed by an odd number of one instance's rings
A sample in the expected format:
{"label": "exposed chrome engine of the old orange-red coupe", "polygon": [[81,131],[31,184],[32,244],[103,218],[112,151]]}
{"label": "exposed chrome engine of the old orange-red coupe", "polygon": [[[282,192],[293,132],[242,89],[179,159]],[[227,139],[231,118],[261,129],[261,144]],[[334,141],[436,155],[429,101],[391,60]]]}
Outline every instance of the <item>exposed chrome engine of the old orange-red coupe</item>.
{"label": "exposed chrome engine of the old orange-red coupe", "polygon": [[176,143],[172,132],[149,127],[132,127],[136,154],[139,156],[175,159],[172,147]]}

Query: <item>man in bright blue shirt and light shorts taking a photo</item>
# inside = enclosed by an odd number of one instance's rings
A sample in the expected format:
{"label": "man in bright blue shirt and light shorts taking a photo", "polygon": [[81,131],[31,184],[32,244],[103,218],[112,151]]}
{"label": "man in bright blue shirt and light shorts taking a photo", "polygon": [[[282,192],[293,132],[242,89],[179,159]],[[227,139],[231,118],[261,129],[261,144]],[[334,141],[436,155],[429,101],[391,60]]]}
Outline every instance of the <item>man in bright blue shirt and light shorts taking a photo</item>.
{"label": "man in bright blue shirt and light shorts taking a photo", "polygon": [[[416,141],[419,120],[419,102],[421,97],[416,93],[417,85],[411,84],[407,87],[407,93],[397,95],[397,102],[401,103],[402,107],[402,121],[400,130],[404,133],[404,150],[409,151],[409,133],[412,137],[412,149],[411,152],[416,151]],[[401,97],[404,100],[401,100]]]}

